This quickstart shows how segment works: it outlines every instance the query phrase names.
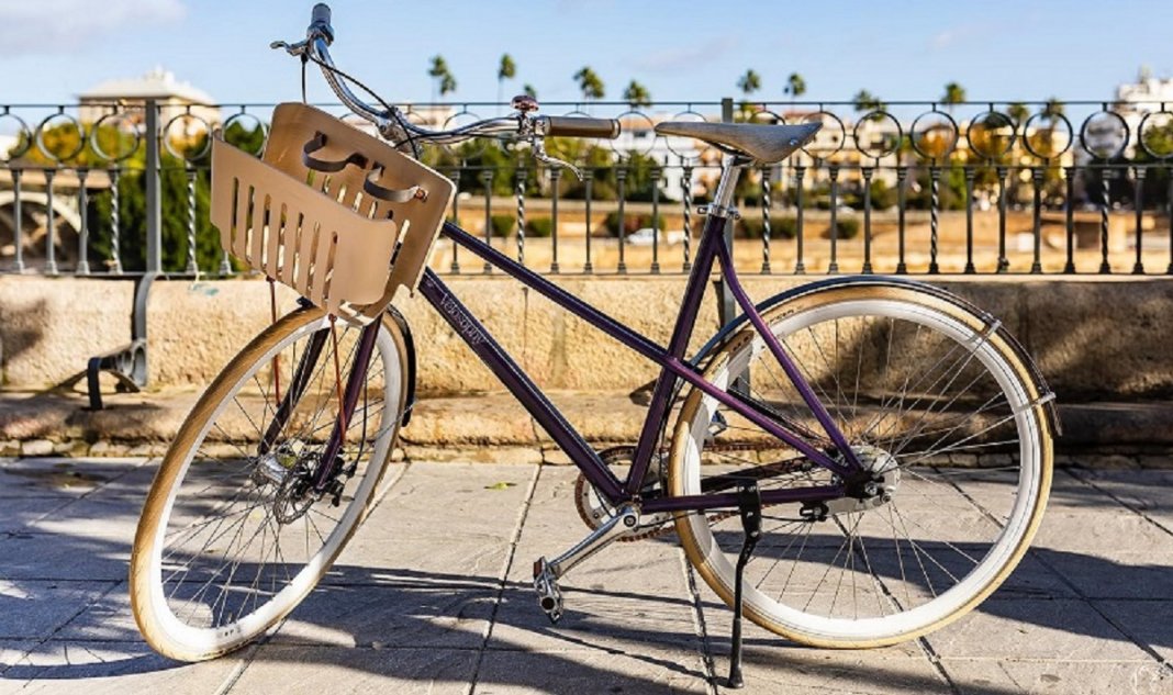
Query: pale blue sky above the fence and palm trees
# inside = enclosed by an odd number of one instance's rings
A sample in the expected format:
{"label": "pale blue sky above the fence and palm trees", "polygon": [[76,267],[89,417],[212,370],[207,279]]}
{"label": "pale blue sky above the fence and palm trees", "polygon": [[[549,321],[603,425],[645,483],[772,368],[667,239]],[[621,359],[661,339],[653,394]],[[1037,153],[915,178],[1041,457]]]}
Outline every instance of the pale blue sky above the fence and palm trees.
{"label": "pale blue sky above the fence and palm trees", "polygon": [[[0,0],[0,103],[69,103],[111,77],[156,64],[216,100],[299,96],[296,61],[269,49],[304,34],[312,2]],[[394,101],[432,96],[428,59],[448,61],[455,101],[494,100],[503,52],[518,68],[506,94],[578,98],[589,64],[609,98],[636,79],[660,101],[737,96],[746,68],[785,101],[792,71],[808,100],[934,100],[961,82],[971,100],[1107,100],[1147,64],[1173,75],[1173,2],[975,0],[335,0],[334,56]],[[311,98],[325,100],[320,79]]]}

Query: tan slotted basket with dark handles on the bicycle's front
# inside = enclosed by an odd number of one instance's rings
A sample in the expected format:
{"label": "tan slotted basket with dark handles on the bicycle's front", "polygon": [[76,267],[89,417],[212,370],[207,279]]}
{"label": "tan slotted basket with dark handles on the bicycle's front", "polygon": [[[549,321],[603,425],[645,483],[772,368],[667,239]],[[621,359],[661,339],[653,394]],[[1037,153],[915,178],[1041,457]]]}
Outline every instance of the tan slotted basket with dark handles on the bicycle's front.
{"label": "tan slotted basket with dark handles on the bicycle's front", "polygon": [[250,268],[328,313],[373,321],[414,292],[455,185],[300,103],[273,111],[262,158],[212,139],[211,222]]}

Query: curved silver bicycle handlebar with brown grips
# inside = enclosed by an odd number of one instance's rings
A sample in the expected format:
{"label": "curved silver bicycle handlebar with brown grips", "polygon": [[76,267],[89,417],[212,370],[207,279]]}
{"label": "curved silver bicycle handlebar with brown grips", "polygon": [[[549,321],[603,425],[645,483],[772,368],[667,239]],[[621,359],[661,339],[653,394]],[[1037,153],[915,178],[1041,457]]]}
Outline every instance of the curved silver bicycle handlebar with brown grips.
{"label": "curved silver bicycle handlebar with brown grips", "polygon": [[[321,68],[321,74],[334,93],[348,109],[369,121],[379,134],[396,144],[426,141],[438,144],[450,144],[473,137],[533,137],[538,156],[548,162],[540,138],[544,136],[598,137],[615,138],[619,136],[619,122],[611,118],[578,118],[574,116],[530,116],[524,111],[510,116],[488,118],[450,130],[429,130],[407,121],[393,105],[382,103],[384,108],[368,104],[355,96],[351,88],[339,79],[345,75],[330,57],[328,47],[334,41],[334,29],[330,23],[330,7],[319,2],[310,14],[310,26],[306,28],[305,41],[289,46],[278,41],[273,48],[285,48],[292,55],[301,56],[303,62],[312,60]],[[354,81],[351,77],[347,77]],[[357,81],[354,81],[358,83]],[[378,98],[378,97],[377,97]]]}

